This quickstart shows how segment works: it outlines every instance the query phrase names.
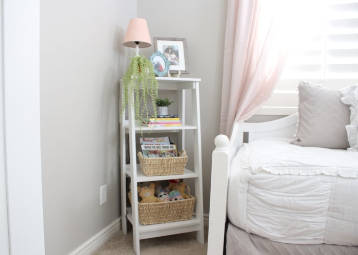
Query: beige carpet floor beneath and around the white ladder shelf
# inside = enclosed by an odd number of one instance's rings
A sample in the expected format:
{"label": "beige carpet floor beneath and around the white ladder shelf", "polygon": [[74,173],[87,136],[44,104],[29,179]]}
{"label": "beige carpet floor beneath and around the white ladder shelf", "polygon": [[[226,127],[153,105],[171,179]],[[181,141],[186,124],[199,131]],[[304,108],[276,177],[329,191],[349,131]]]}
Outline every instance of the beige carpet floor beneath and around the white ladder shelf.
{"label": "beige carpet floor beneath and around the white ladder shelf", "polygon": [[[156,237],[143,239],[140,241],[141,255],[159,254],[185,254],[185,255],[204,255],[207,254],[208,247],[208,227],[204,228],[205,244],[196,241],[196,232],[179,235]],[[109,239],[99,247],[92,255],[133,255],[133,235],[131,230],[127,235],[122,231]]]}

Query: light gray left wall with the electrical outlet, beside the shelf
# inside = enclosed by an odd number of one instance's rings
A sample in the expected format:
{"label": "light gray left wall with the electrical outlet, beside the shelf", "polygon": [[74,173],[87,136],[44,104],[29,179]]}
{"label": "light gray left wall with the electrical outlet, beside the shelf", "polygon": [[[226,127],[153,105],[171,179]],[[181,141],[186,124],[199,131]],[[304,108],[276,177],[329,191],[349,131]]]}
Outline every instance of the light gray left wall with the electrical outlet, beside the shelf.
{"label": "light gray left wall with the electrical outlet, beside the shelf", "polygon": [[[137,2],[40,3],[46,254],[69,254],[119,217],[118,82]],[[100,186],[107,202],[100,206]]]}

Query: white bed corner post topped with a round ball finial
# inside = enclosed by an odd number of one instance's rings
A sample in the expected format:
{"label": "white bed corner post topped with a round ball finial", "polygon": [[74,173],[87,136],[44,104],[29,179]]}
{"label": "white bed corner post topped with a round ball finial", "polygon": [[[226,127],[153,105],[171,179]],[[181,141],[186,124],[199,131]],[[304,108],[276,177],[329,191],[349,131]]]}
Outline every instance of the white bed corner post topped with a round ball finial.
{"label": "white bed corner post topped with a round ball finial", "polygon": [[229,175],[229,138],[218,135],[211,164],[208,255],[222,254]]}

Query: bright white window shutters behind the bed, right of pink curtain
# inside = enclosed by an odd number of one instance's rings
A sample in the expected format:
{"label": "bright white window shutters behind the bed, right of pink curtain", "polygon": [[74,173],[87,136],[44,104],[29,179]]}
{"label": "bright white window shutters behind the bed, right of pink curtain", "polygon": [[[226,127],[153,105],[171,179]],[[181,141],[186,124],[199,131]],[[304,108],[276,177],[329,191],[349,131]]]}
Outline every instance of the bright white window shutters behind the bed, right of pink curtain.
{"label": "bright white window shutters behind the bed, right of pink curtain", "polygon": [[276,90],[256,114],[297,111],[302,80],[332,89],[358,84],[358,0],[316,0],[305,8]]}

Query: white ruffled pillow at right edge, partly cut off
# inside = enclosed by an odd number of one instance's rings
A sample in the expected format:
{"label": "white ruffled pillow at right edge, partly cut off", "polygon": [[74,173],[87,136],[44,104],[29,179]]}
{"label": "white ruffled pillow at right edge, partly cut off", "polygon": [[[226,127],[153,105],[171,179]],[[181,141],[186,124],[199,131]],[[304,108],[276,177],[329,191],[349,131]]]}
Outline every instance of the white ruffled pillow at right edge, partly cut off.
{"label": "white ruffled pillow at right edge, partly cut off", "polygon": [[344,88],[341,101],[346,105],[350,105],[350,124],[346,125],[350,146],[348,150],[358,151],[358,85]]}

